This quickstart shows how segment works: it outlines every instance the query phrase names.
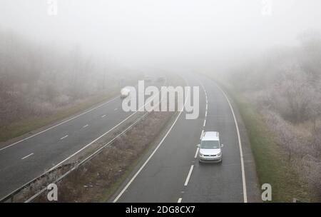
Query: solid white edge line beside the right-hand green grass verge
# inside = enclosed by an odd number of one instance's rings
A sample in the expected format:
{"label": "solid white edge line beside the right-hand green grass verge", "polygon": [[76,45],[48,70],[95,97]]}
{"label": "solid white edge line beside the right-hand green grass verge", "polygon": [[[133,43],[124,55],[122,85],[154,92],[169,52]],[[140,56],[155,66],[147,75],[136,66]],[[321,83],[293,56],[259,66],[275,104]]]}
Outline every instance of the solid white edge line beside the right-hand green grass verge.
{"label": "solid white edge line beside the right-hand green grass verge", "polygon": [[240,131],[238,129],[238,121],[236,121],[236,117],[235,117],[235,113],[234,113],[234,110],[233,110],[233,106],[230,104],[230,100],[228,99],[228,96],[225,94],[223,89],[221,89],[220,86],[218,86],[218,84],[216,84],[216,86],[218,87],[218,89],[220,89],[220,91],[222,91],[223,95],[225,96],[225,99],[228,101],[228,104],[230,105],[230,110],[232,111],[232,114],[233,114],[236,131],[238,133],[238,146],[240,148],[240,161],[241,161],[241,171],[242,171],[242,181],[243,181],[243,200],[244,200],[244,203],[248,203],[248,196],[247,196],[247,193],[246,193],[246,181],[245,181],[245,169],[244,169],[244,161],[243,161],[243,151],[242,151],[242,143],[240,141]]}

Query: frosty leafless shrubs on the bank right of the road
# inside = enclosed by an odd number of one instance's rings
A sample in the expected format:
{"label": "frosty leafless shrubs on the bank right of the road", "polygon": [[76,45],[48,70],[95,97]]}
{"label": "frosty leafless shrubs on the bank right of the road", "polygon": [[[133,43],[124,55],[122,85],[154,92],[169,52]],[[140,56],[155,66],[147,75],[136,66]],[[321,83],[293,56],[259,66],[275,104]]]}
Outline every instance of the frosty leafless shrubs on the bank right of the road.
{"label": "frosty leafless shrubs on the bank right of the road", "polygon": [[287,160],[321,198],[321,34],[272,51],[230,76],[258,108]]}

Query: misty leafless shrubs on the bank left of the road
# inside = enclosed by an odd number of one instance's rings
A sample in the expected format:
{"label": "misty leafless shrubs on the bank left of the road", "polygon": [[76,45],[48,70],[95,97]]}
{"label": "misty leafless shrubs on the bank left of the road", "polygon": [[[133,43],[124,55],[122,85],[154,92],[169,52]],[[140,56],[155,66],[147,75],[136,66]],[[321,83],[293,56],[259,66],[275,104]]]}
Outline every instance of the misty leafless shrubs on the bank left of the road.
{"label": "misty leafless shrubs on the bank left of the road", "polygon": [[[63,52],[0,31],[0,123],[46,116],[78,100],[118,87],[104,64],[93,64],[78,47]],[[118,71],[113,67],[113,72]],[[131,76],[121,71],[126,82]],[[128,78],[128,79],[127,79]]]}

